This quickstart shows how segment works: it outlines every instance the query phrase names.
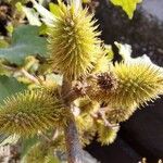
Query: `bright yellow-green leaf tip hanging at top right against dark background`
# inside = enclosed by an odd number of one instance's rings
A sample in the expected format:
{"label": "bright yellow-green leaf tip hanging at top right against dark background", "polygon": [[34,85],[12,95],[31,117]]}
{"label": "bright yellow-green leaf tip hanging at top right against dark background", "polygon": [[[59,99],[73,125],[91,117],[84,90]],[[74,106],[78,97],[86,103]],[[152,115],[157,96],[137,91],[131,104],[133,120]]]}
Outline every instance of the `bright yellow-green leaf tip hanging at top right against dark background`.
{"label": "bright yellow-green leaf tip hanging at top right against dark background", "polygon": [[111,0],[114,5],[120,5],[127,13],[129,18],[133,18],[134,11],[137,8],[137,3],[142,2],[142,0]]}

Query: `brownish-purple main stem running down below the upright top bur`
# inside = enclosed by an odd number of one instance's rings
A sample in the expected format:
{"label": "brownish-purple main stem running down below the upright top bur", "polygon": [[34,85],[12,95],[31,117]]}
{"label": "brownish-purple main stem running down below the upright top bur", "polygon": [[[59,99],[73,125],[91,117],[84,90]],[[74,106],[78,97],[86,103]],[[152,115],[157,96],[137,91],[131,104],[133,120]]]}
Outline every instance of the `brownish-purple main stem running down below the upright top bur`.
{"label": "brownish-purple main stem running down below the upright top bur", "polygon": [[[71,84],[63,80],[62,85],[62,97],[71,91]],[[70,97],[71,98],[71,97]],[[71,100],[64,101],[65,104],[71,109]],[[77,128],[75,120],[70,120],[67,125],[64,127],[65,145],[67,149],[67,162],[68,163],[84,163],[83,162],[83,149],[79,143]]]}

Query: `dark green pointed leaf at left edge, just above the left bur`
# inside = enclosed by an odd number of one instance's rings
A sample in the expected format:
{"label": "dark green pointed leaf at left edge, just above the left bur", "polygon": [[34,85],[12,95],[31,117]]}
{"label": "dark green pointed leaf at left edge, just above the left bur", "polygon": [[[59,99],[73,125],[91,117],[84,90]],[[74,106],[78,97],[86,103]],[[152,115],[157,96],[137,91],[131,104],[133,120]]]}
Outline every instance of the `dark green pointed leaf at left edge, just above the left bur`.
{"label": "dark green pointed leaf at left edge, just above the left bur", "polygon": [[24,84],[18,83],[13,77],[0,76],[0,102],[4,98],[26,89]]}

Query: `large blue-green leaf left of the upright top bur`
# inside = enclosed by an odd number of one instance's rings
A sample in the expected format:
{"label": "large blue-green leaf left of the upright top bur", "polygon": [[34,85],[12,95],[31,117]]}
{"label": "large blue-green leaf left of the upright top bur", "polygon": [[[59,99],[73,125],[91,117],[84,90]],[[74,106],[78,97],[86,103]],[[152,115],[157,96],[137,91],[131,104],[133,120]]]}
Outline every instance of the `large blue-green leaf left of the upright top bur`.
{"label": "large blue-green leaf left of the upright top bur", "polygon": [[46,57],[47,40],[39,37],[37,26],[23,25],[14,30],[11,46],[0,49],[0,58],[7,59],[11,63],[22,64],[29,54]]}

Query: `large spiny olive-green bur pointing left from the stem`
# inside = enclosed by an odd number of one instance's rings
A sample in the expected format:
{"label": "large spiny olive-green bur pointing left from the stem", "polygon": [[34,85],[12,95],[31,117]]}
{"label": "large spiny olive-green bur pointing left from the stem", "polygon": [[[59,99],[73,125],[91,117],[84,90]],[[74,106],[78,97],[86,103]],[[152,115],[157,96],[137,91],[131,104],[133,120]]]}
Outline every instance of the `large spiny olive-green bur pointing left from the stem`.
{"label": "large spiny olive-green bur pointing left from the stem", "polygon": [[42,90],[27,90],[4,100],[0,105],[0,131],[33,136],[54,126],[66,125],[68,110],[52,95]]}

